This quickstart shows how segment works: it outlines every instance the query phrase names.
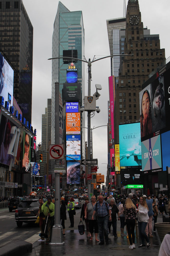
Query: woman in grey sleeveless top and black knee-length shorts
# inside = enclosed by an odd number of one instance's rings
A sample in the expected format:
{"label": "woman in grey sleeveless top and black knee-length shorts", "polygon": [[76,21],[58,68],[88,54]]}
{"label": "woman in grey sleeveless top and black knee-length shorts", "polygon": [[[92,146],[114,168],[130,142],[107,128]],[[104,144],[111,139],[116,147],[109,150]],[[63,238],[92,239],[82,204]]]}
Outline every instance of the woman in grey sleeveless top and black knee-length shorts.
{"label": "woman in grey sleeveless top and black knee-length shorts", "polygon": [[96,242],[100,242],[97,239],[99,230],[98,230],[98,225],[97,225],[96,214],[94,215],[94,220],[91,220],[95,204],[96,204],[96,197],[92,196],[91,197],[91,203],[88,203],[88,205],[86,206],[84,218],[85,219],[87,218],[87,212],[88,212],[88,225],[89,225],[89,231],[90,231],[90,234],[91,234],[90,241],[93,240],[93,232],[94,232],[95,233],[95,240],[96,240]]}

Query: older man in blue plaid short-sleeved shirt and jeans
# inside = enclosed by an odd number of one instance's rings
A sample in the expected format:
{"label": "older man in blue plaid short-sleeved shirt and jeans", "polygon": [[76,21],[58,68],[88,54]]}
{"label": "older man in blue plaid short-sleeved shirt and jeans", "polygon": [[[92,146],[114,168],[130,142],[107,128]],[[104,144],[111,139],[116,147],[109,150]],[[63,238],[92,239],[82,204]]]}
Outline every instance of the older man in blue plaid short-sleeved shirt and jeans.
{"label": "older man in blue plaid short-sleeved shirt and jeans", "polygon": [[99,197],[99,201],[95,204],[94,212],[91,219],[94,219],[94,215],[97,215],[97,224],[99,228],[100,245],[104,244],[104,237],[106,244],[109,244],[108,239],[108,221],[112,220],[111,211],[107,202],[103,201],[102,195]]}

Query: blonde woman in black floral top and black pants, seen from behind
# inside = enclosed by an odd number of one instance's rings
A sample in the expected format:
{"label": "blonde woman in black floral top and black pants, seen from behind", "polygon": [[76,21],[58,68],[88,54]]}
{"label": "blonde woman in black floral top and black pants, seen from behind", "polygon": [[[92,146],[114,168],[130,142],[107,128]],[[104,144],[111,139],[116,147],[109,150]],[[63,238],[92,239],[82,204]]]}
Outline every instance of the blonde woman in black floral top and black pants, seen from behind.
{"label": "blonde woman in black floral top and black pants, seen from behind", "polygon": [[[135,247],[135,217],[136,217],[136,206],[133,204],[132,200],[130,198],[126,199],[125,206],[124,206],[124,212],[125,212],[125,221],[128,231],[128,237],[130,246],[129,249],[136,248]],[[131,236],[132,234],[132,236]]]}

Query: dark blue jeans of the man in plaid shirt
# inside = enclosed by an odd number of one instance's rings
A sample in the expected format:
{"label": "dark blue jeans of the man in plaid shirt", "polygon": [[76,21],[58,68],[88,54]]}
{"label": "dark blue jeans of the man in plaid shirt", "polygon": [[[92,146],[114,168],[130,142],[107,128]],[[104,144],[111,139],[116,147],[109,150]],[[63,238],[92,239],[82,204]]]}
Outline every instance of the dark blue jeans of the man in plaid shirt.
{"label": "dark blue jeans of the man in plaid shirt", "polygon": [[109,217],[97,217],[97,223],[98,223],[98,228],[99,228],[99,237],[100,237],[100,242],[104,243],[104,237],[105,241],[108,241],[108,220]]}

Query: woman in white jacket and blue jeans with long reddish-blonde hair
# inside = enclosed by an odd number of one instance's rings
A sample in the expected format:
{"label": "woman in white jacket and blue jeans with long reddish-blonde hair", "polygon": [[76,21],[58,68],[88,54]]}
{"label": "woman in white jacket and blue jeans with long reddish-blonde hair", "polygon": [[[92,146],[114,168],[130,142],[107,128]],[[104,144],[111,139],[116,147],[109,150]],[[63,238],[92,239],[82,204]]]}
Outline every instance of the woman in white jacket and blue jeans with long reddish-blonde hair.
{"label": "woman in white jacket and blue jeans with long reddish-blonde hair", "polygon": [[137,215],[136,217],[138,218],[138,228],[139,228],[139,234],[142,240],[142,244],[138,246],[139,248],[145,248],[145,240],[147,242],[147,248],[150,247],[150,241],[145,233],[145,229],[147,226],[147,223],[149,222],[149,216],[148,216],[148,206],[145,200],[145,197],[141,196],[139,198],[139,206],[138,209],[136,209]]}

